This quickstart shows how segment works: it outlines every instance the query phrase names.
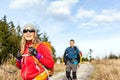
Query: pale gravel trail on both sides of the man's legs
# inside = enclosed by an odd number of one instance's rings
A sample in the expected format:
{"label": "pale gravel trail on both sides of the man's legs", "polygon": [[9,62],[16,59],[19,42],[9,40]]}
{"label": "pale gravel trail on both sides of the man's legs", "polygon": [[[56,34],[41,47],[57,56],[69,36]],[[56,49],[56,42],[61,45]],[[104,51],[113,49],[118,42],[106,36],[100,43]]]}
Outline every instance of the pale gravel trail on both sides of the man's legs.
{"label": "pale gravel trail on both sides of the man's legs", "polygon": [[[81,64],[77,70],[77,80],[89,80],[94,67],[90,63]],[[50,78],[50,80],[67,80],[65,72],[58,73]]]}

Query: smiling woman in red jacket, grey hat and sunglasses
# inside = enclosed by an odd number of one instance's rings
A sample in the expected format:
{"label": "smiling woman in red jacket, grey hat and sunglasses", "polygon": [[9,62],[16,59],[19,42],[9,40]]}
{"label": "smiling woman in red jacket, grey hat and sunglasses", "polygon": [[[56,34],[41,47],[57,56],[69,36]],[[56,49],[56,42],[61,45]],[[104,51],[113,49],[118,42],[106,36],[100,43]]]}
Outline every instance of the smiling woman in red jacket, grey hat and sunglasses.
{"label": "smiling woman in red jacket, grey hat and sunglasses", "polygon": [[34,25],[24,26],[16,58],[16,66],[21,69],[23,80],[49,80],[46,68],[53,68],[54,60],[48,47],[37,38]]}

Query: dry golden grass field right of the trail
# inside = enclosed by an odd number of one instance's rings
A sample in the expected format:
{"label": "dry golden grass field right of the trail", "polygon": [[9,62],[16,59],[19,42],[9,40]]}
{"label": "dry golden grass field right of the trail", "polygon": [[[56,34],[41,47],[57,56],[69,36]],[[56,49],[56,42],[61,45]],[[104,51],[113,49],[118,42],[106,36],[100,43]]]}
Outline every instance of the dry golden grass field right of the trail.
{"label": "dry golden grass field right of the trail", "polygon": [[92,61],[95,69],[90,80],[120,80],[120,59]]}

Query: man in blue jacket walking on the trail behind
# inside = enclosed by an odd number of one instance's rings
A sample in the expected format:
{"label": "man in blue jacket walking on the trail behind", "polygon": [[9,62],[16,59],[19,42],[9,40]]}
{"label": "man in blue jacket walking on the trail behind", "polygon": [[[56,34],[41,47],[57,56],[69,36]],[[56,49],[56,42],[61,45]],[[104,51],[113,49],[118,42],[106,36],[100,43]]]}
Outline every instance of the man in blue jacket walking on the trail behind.
{"label": "man in blue jacket walking on the trail behind", "polygon": [[[64,62],[66,65],[66,77],[68,80],[77,80],[77,65],[80,62],[80,51],[74,46],[75,41],[73,39],[70,40],[70,47],[66,48],[64,53]],[[71,75],[72,71],[72,77]]]}

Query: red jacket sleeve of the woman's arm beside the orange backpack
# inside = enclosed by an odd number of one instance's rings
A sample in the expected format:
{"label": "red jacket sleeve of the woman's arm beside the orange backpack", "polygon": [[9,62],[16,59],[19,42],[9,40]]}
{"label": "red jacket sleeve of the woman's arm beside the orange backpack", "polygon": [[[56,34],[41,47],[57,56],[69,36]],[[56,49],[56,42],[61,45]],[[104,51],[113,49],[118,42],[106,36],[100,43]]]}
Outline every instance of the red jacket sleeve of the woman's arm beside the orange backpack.
{"label": "red jacket sleeve of the woman's arm beside the orange backpack", "polygon": [[40,44],[37,48],[38,54],[41,54],[43,57],[40,58],[40,62],[47,68],[54,67],[54,59],[52,57],[51,51],[44,44]]}

